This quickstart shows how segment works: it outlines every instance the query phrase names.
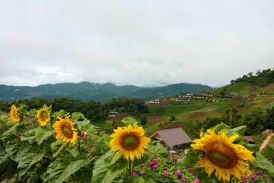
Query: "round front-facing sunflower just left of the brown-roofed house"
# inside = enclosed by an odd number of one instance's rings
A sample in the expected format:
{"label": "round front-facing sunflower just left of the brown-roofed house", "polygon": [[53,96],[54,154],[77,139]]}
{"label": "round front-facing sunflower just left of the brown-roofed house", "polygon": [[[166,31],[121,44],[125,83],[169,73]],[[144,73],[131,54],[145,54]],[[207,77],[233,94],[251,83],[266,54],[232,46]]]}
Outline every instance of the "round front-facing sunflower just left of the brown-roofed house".
{"label": "round front-facing sunflower just left of the brown-roofed house", "polygon": [[123,157],[127,160],[140,159],[145,153],[149,138],[144,136],[145,131],[137,125],[128,125],[127,127],[118,127],[111,135],[110,147],[118,154],[123,152]]}

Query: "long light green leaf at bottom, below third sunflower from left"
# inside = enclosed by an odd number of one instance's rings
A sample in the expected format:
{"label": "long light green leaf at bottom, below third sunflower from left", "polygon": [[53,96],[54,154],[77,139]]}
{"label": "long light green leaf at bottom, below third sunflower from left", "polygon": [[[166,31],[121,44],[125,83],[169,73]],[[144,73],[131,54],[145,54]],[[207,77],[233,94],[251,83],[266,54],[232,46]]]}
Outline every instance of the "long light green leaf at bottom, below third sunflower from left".
{"label": "long light green leaf at bottom, below third sunflower from left", "polygon": [[88,160],[77,160],[75,162],[71,162],[71,164],[69,164],[69,166],[64,169],[62,175],[60,175],[56,182],[64,182],[64,180],[69,178],[73,173],[83,167],[87,162]]}

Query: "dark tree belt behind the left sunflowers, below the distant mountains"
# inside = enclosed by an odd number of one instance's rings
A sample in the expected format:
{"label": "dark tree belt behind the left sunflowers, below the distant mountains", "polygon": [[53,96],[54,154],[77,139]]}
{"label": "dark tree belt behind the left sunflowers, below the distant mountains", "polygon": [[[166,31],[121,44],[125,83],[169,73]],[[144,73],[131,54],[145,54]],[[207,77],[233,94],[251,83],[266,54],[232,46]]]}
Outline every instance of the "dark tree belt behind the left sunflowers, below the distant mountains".
{"label": "dark tree belt behind the left sunflowers, below the distant mountains", "polygon": [[44,104],[52,106],[53,112],[59,110],[66,110],[73,113],[75,111],[81,112],[84,116],[92,122],[105,121],[108,117],[109,111],[115,109],[127,112],[135,117],[139,117],[140,113],[149,112],[145,102],[141,99],[127,99],[117,98],[110,99],[108,101],[80,101],[75,99],[19,99],[18,101],[12,101],[11,103],[0,101],[0,110],[9,112],[10,106],[19,103],[27,105],[26,110],[42,108]]}

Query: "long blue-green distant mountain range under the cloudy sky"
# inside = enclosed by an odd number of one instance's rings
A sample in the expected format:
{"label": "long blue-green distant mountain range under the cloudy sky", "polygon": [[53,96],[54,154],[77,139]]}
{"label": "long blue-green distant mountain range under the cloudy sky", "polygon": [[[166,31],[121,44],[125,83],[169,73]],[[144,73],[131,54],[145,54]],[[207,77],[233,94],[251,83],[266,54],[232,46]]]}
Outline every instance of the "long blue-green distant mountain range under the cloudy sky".
{"label": "long blue-green distant mountain range under the cloudy sky", "polygon": [[178,93],[197,93],[201,90],[211,89],[202,84],[171,84],[163,87],[144,88],[134,85],[116,86],[112,83],[97,84],[89,82],[43,84],[31,86],[7,86],[0,84],[0,100],[12,101],[29,99],[32,97],[55,99],[70,98],[80,100],[104,100],[113,97],[128,98],[160,98]]}

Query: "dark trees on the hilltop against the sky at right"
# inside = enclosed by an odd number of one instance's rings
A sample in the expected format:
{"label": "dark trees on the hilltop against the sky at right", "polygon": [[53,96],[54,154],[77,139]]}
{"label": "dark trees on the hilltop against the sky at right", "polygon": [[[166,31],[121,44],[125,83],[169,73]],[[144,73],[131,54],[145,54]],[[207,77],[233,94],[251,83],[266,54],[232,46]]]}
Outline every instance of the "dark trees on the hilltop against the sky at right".
{"label": "dark trees on the hilltop against the sky at right", "polygon": [[236,82],[248,82],[258,84],[258,86],[260,87],[267,86],[268,84],[274,82],[274,69],[273,71],[271,71],[271,69],[266,69],[262,71],[258,70],[256,72],[256,75],[253,75],[253,73],[248,73],[247,75],[243,75],[236,80],[230,81],[231,84],[234,84]]}

